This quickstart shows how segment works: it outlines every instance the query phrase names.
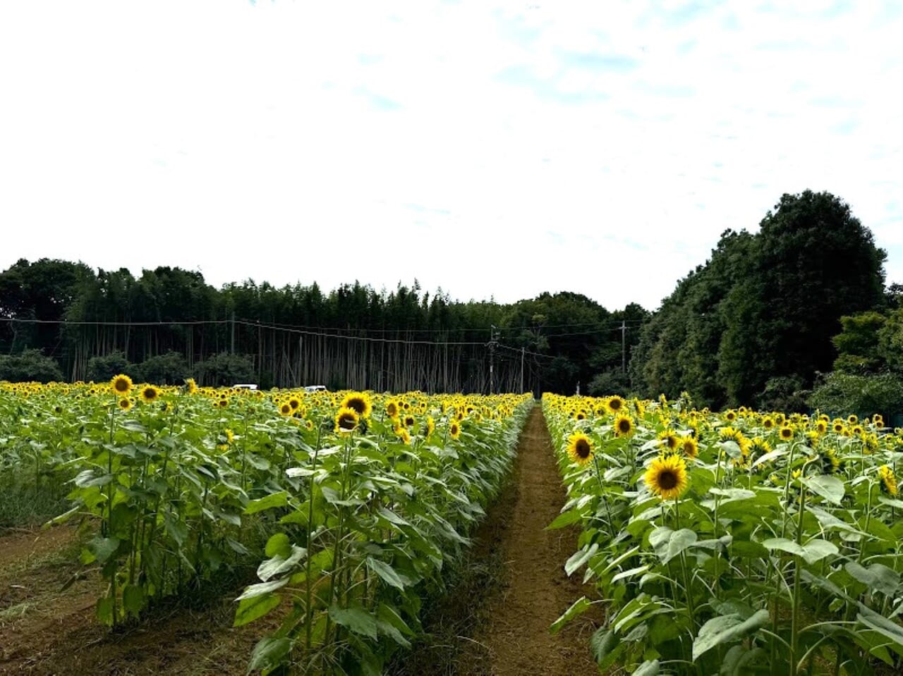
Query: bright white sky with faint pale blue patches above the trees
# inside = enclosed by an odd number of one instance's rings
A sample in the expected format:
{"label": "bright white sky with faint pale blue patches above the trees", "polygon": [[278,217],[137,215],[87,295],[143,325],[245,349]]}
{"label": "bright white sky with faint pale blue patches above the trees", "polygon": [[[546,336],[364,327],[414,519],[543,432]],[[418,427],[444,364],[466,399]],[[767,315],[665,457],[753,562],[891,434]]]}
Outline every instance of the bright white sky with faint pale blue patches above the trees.
{"label": "bright white sky with faint pale blue patches above the trees", "polygon": [[828,190],[903,282],[903,3],[0,4],[0,269],[649,310]]}

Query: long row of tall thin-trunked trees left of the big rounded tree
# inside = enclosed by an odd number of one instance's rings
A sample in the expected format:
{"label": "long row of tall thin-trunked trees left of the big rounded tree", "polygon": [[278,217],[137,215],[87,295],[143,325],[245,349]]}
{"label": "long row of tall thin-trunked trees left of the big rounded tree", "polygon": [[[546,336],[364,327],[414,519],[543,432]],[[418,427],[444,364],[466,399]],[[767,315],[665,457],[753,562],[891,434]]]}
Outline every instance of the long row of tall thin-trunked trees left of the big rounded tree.
{"label": "long row of tall thin-trunked trees left of the big rounded tree", "polygon": [[0,379],[99,381],[129,370],[157,383],[585,391],[593,376],[625,370],[647,316],[570,292],[503,304],[452,301],[416,282],[215,289],[177,267],[136,277],[20,260],[0,273]]}

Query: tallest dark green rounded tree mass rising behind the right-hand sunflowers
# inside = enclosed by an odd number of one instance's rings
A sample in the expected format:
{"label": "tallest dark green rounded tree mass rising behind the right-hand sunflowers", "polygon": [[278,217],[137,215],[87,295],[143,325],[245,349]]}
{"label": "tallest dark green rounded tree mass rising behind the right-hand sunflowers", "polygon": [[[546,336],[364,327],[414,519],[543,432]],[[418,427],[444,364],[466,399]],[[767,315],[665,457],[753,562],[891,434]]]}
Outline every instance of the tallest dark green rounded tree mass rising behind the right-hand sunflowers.
{"label": "tallest dark green rounded tree mass rising behind the right-hand sunflowers", "polygon": [[788,389],[832,367],[842,316],[885,301],[884,260],[841,199],[786,194],[758,234],[725,232],[663,301],[632,382],[643,394],[685,389],[713,406],[786,404]]}

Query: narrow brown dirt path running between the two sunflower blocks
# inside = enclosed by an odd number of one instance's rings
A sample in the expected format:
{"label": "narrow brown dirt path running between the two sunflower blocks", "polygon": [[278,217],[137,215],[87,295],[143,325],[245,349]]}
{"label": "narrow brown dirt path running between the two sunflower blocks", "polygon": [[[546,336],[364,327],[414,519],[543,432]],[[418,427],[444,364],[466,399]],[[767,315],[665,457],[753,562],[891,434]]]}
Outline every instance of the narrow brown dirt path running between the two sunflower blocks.
{"label": "narrow brown dirt path running between the two sunflower blocks", "polygon": [[589,618],[560,634],[549,632],[549,625],[575,600],[590,595],[579,573],[569,579],[563,570],[564,561],[576,551],[577,532],[544,530],[563,506],[564,489],[538,405],[521,433],[516,475],[513,501],[500,505],[510,516],[496,531],[495,547],[507,568],[505,588],[491,603],[488,622],[475,638],[488,649],[494,676],[598,673],[589,648],[594,628]]}

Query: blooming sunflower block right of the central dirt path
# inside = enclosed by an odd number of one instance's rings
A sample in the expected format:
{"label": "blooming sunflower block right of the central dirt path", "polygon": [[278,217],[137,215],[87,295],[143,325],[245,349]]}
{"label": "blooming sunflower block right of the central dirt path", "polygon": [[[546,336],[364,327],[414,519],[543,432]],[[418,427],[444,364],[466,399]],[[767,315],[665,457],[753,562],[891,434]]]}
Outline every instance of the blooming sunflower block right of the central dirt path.
{"label": "blooming sunflower block right of the central dirt path", "polygon": [[903,431],[677,401],[546,394],[577,524],[564,563],[606,621],[591,650],[634,674],[903,672],[896,470]]}

